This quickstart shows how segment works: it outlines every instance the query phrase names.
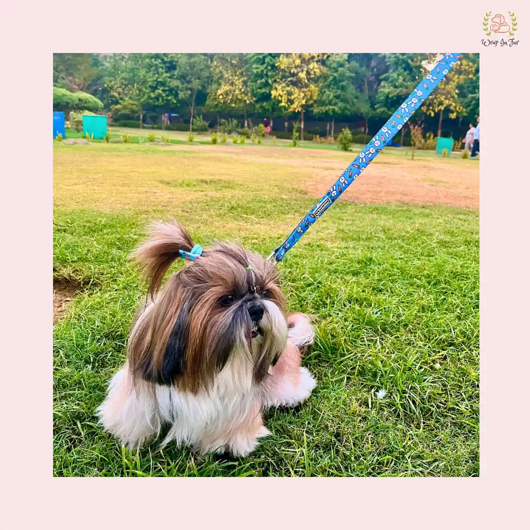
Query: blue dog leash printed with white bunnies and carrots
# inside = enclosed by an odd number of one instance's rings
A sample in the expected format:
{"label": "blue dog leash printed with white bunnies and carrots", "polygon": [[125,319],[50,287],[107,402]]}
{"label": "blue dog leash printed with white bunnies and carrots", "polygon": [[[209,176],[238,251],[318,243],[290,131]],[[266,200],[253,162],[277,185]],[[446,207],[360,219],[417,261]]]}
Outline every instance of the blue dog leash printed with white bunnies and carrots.
{"label": "blue dog leash printed with white bunnies and carrots", "polygon": [[414,89],[414,92],[403,102],[385,123],[379,132],[370,140],[355,160],[340,175],[328,192],[313,206],[309,213],[301,220],[298,226],[289,234],[287,239],[274,249],[269,259],[281,261],[285,253],[292,249],[296,242],[305,234],[309,227],[346,191],[346,188],[366,169],[368,164],[381,153],[383,147],[392,143],[394,135],[401,130],[409,118],[419,109],[420,105],[428,98],[438,83],[448,74],[449,70],[462,57],[461,54],[446,54],[430,71],[425,79]]}

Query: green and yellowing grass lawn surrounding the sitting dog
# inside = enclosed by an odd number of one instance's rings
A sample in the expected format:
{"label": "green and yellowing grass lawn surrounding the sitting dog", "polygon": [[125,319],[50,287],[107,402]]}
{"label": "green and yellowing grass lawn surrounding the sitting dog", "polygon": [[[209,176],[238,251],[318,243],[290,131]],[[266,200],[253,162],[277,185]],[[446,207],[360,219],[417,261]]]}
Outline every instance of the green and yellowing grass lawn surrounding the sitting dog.
{"label": "green and yellowing grass lawn surrounding the sitting dog", "polygon": [[[169,147],[54,143],[54,280],[78,291],[54,325],[54,474],[478,475],[478,164],[405,149],[385,149],[345,194],[357,202],[335,204],[279,264],[291,310],[317,322],[304,358],[317,386],[301,408],[266,414],[257,451],[127,452],[96,425],[145,299],[127,261],[144,224],[174,216],[203,246],[267,255],[355,156],[173,134]],[[399,189],[369,187],[392,175]]]}

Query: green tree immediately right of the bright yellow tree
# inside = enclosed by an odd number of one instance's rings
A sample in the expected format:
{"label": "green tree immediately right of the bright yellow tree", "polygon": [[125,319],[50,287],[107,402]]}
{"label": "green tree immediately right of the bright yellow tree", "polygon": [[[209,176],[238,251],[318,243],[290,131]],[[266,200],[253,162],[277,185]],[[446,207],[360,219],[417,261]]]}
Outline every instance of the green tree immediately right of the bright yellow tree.
{"label": "green tree immediately right of the bright yellow tree", "polygon": [[[331,136],[334,135],[335,118],[361,113],[365,110],[366,98],[356,89],[360,68],[355,61],[348,62],[347,54],[332,54],[324,66],[328,70],[313,106],[315,116],[331,118]],[[326,125],[329,136],[330,122]]]}

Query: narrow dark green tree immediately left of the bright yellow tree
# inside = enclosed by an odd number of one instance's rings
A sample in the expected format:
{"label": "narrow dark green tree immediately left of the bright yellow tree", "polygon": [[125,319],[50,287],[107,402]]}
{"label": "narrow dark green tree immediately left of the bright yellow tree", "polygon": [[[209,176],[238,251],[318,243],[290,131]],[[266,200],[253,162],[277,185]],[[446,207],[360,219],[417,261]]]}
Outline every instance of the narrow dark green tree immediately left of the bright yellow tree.
{"label": "narrow dark green tree immediately left of the bright yellow tree", "polygon": [[270,127],[273,125],[273,114],[279,111],[278,100],[271,96],[276,76],[276,63],[280,54],[250,54],[247,60],[249,88],[257,112],[270,116]]}

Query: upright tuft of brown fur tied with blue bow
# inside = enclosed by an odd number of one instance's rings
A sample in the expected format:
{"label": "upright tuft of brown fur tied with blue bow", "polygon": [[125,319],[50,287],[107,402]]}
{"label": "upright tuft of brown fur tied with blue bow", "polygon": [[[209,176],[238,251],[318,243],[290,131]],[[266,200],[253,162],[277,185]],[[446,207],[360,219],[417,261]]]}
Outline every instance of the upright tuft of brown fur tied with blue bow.
{"label": "upright tuft of brown fur tied with blue bow", "polygon": [[131,253],[130,258],[139,263],[151,297],[160,289],[171,263],[180,258],[179,250],[189,252],[192,248],[188,232],[175,220],[155,222],[149,227],[147,239]]}

